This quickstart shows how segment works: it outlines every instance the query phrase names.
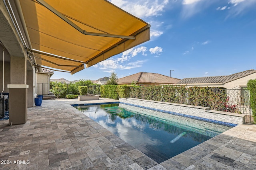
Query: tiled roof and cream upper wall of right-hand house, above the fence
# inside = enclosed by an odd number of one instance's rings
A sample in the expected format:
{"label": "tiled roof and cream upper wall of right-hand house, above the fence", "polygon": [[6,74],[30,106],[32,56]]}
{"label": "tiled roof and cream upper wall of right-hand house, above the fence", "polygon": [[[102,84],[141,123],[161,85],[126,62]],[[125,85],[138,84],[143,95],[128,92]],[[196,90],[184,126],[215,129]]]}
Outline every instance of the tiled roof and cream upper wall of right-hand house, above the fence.
{"label": "tiled roof and cream upper wall of right-hand house, above the fence", "polygon": [[256,70],[246,70],[227,76],[184,78],[177,84],[191,86],[224,87],[232,89],[235,87],[246,88],[247,81],[256,78]]}

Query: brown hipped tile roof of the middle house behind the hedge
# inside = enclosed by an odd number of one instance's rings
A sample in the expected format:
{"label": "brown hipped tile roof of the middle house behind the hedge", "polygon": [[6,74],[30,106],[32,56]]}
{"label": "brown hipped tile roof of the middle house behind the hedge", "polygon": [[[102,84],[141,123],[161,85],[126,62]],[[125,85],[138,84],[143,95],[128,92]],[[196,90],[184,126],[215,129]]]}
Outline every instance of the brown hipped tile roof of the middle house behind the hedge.
{"label": "brown hipped tile roof of the middle house behind the hedge", "polygon": [[150,72],[138,72],[130,76],[118,79],[118,84],[136,83],[139,86],[150,86],[159,84],[176,84],[180,79],[164,76],[162,74]]}

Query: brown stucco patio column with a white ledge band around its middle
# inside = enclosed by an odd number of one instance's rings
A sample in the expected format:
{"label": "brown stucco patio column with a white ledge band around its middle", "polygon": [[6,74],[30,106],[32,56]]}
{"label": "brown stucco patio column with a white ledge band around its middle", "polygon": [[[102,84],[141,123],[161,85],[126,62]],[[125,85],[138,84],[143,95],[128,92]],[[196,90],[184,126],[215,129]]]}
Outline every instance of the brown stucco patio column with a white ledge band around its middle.
{"label": "brown stucco patio column with a white ledge band around its middle", "polygon": [[28,119],[28,85],[26,56],[10,59],[9,125],[26,123]]}

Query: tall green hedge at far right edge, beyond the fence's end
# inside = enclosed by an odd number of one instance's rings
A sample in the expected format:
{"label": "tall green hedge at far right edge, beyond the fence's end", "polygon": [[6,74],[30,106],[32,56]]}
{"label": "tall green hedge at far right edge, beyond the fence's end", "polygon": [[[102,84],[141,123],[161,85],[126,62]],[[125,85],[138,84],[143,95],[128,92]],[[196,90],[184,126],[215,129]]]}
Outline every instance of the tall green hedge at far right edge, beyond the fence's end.
{"label": "tall green hedge at far right edge, beyond the fence's end", "polygon": [[247,88],[250,91],[250,105],[252,108],[252,116],[255,124],[256,123],[256,79],[248,80]]}

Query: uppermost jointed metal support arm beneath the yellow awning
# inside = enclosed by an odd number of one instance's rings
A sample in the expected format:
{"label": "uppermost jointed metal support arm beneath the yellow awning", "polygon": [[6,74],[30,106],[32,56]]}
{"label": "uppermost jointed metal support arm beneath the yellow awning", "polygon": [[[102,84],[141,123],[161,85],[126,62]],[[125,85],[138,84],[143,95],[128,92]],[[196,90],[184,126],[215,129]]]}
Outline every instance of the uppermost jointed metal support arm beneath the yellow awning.
{"label": "uppermost jointed metal support arm beneath the yellow awning", "polygon": [[42,6],[53,12],[56,16],[60,17],[62,20],[64,20],[66,23],[74,27],[76,30],[78,30],[80,33],[84,35],[94,35],[94,36],[101,36],[101,37],[114,37],[114,38],[123,38],[123,39],[135,39],[134,36],[127,36],[127,35],[115,35],[115,34],[106,34],[106,33],[94,33],[94,32],[87,32],[83,30],[82,28],[78,27],[74,22],[70,21],[66,16],[58,12],[56,9],[54,9],[52,6],[47,4],[44,0],[36,0]]}

